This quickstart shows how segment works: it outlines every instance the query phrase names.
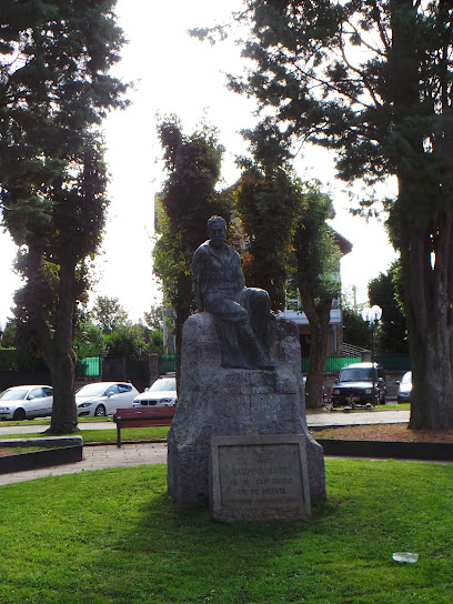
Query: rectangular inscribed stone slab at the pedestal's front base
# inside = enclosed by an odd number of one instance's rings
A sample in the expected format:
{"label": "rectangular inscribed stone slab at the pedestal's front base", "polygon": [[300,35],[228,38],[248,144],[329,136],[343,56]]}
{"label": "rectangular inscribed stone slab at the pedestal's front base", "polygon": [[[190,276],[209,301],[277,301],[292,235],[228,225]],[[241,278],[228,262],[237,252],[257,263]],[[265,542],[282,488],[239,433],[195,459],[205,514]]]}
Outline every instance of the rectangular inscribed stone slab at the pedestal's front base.
{"label": "rectangular inscribed stone slab at the pedestal's front base", "polygon": [[299,435],[212,439],[213,516],[219,520],[310,514],[305,443]]}

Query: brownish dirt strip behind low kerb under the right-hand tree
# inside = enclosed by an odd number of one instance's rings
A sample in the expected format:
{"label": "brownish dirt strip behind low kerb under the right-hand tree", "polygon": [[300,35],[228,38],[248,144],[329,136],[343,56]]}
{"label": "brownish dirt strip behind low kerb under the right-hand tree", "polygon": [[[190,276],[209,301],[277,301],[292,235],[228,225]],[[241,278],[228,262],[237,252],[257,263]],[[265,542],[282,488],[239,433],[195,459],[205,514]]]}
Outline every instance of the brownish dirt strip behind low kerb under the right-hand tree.
{"label": "brownish dirt strip behind low kerb under the right-hand tree", "polygon": [[453,443],[453,429],[409,430],[407,424],[370,424],[329,427],[312,432],[314,439],[342,441],[390,441],[419,443]]}

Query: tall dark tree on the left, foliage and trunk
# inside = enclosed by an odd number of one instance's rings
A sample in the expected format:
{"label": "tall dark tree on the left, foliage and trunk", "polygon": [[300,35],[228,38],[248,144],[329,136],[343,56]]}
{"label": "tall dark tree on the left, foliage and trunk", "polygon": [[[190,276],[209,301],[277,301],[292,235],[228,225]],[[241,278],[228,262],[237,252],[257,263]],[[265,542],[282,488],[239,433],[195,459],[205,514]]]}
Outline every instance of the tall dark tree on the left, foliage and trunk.
{"label": "tall dark tree on the left, foliage and trunk", "polygon": [[104,222],[99,125],[122,107],[108,74],[122,32],[114,0],[4,0],[0,8],[0,195],[20,246],[19,325],[54,389],[50,432],[77,430],[72,330]]}

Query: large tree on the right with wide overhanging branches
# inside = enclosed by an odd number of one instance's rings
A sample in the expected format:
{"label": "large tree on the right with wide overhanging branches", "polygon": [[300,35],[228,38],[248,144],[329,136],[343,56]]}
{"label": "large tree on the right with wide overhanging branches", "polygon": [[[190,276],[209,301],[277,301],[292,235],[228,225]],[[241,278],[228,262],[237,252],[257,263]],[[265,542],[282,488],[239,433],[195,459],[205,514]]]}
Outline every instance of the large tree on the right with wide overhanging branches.
{"label": "large tree on the right with wide overhanging branches", "polygon": [[[397,178],[413,368],[410,426],[453,425],[453,7],[445,0],[248,0],[254,70],[231,85],[344,180]],[[370,204],[371,201],[366,201]],[[372,208],[369,205],[369,210]]]}

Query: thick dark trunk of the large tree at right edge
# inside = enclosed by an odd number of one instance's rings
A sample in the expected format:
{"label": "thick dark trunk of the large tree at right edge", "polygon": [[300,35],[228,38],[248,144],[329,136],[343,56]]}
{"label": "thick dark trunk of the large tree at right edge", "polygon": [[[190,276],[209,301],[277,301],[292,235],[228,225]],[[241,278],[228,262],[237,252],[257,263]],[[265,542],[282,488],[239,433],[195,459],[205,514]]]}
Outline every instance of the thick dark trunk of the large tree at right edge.
{"label": "thick dark trunk of the large tree at right edge", "polygon": [[[453,426],[453,213],[445,149],[424,150],[426,130],[414,115],[427,115],[420,95],[417,9],[412,0],[392,0],[390,83],[399,148],[399,222],[409,351],[412,363],[412,429]],[[443,85],[445,82],[440,82]],[[450,80],[447,80],[450,87]],[[445,111],[443,107],[443,111]],[[445,122],[444,127],[449,129]],[[445,134],[445,132],[444,132]],[[446,141],[450,137],[437,137]],[[444,144],[443,142],[443,144]],[[441,151],[439,155],[437,152]],[[445,164],[446,162],[446,164]],[[445,165],[449,167],[444,170]]]}

